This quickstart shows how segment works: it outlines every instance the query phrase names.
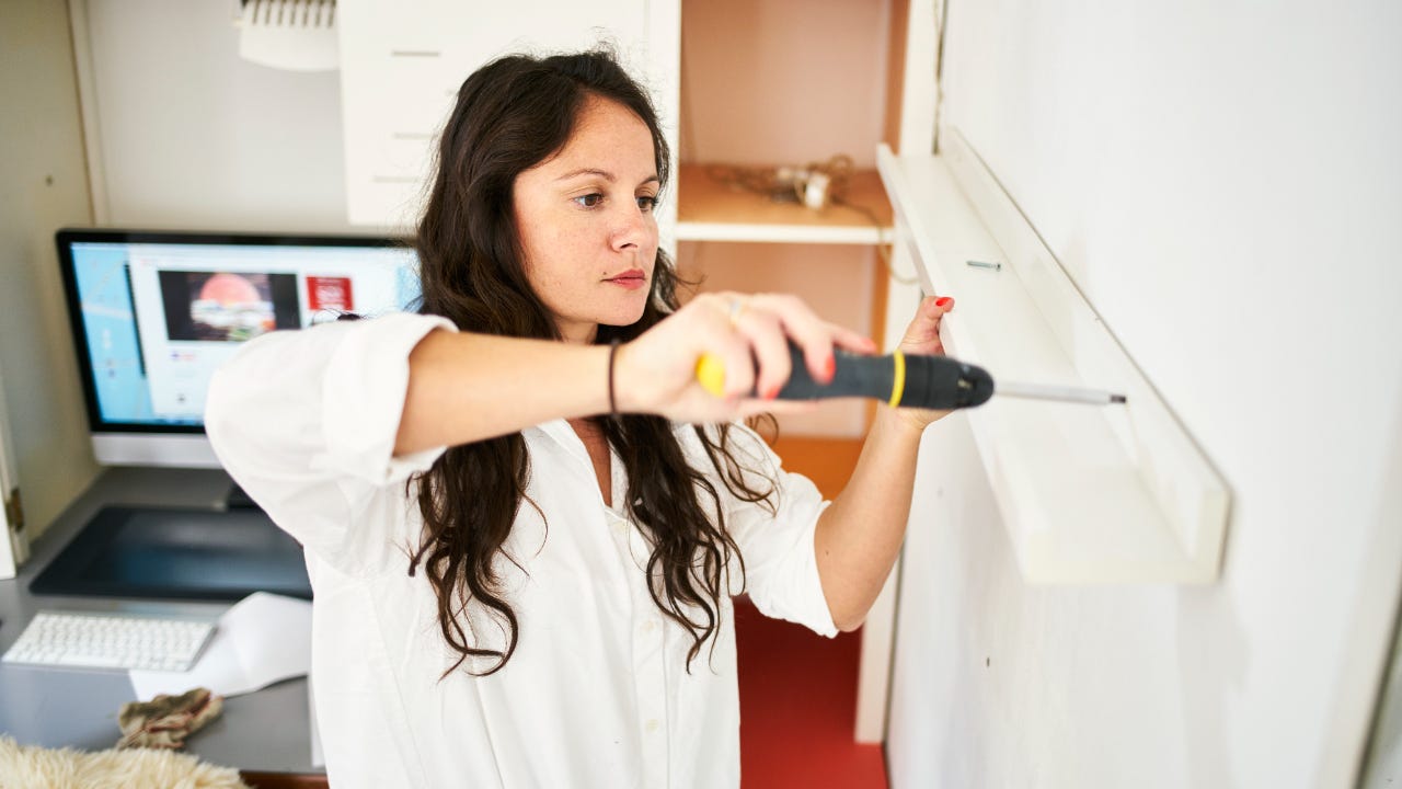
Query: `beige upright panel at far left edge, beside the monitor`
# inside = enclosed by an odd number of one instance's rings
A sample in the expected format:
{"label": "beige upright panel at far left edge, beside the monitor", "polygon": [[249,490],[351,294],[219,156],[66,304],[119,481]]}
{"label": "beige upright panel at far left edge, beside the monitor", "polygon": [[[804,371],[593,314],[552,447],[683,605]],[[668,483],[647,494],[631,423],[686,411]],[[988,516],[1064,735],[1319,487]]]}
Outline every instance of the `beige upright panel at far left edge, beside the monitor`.
{"label": "beige upright panel at far left edge, beside the monitor", "polygon": [[34,538],[97,475],[53,232],[90,222],[63,3],[0,3],[0,369]]}

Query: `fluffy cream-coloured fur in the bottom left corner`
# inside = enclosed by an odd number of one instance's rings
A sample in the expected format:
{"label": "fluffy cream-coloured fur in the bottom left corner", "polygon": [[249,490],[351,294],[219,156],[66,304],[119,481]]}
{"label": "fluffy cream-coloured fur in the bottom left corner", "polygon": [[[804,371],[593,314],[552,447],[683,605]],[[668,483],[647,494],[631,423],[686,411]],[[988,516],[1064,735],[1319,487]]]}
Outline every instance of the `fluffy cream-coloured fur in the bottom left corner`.
{"label": "fluffy cream-coloured fur in the bottom left corner", "polygon": [[0,737],[0,789],[248,789],[238,771],[189,754],[132,748],[83,752]]}

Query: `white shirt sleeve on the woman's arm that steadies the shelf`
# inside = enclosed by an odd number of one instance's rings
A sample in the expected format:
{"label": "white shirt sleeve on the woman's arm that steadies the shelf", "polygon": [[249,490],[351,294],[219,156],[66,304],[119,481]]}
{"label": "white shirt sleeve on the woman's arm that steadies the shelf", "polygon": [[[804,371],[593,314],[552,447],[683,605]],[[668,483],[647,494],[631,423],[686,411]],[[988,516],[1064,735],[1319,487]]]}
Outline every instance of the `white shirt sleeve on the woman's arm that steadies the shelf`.
{"label": "white shirt sleeve on the woman's arm that steadies the shelf", "polygon": [[[785,472],[780,456],[744,425],[732,425],[730,451],[754,490],[774,486],[775,511],[764,503],[735,497],[723,484],[716,491],[725,503],[726,526],[744,559],[744,587],[765,616],[796,622],[833,637],[837,626],[817,573],[815,533],[817,517],[830,504],[812,480]],[[709,465],[709,460],[705,460]]]}

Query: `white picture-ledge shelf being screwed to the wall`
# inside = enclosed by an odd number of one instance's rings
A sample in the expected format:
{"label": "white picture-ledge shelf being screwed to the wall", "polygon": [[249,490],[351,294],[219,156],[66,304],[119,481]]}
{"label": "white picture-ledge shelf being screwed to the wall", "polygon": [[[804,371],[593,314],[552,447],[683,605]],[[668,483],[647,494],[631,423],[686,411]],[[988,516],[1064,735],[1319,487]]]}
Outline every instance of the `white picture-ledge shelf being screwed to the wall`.
{"label": "white picture-ledge shelf being screwed to the wall", "polygon": [[[1089,386],[1123,406],[994,397],[966,411],[1029,583],[1217,578],[1230,493],[958,129],[939,156],[878,167],[897,243],[925,292],[949,293],[953,357],[994,380]],[[1001,268],[967,261],[1000,263]]]}

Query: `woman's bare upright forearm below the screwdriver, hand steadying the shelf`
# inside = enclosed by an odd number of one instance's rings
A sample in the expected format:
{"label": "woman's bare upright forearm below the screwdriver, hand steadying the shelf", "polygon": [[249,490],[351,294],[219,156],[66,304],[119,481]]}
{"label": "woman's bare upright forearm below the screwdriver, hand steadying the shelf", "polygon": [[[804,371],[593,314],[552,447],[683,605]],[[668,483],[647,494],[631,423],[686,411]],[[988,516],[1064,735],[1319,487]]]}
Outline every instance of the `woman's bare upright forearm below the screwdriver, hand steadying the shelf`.
{"label": "woman's bare upright forearm below the screwdriver, hand steadying the shelf", "polygon": [[819,517],[817,573],[841,630],[861,626],[900,553],[920,435],[899,411],[878,407],[847,487]]}

